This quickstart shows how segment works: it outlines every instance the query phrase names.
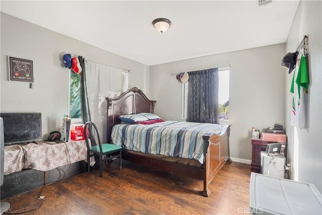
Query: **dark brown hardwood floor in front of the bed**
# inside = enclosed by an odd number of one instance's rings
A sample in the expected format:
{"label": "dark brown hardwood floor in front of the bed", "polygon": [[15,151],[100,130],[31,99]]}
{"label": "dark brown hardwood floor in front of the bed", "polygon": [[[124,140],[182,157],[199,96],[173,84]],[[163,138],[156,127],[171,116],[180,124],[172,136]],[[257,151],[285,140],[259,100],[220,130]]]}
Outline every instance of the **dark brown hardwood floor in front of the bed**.
{"label": "dark brown hardwood floor in front of the bed", "polygon": [[[248,214],[250,165],[226,163],[202,196],[203,181],[124,161],[13,196],[8,213],[24,214]],[[39,194],[44,196],[38,199]],[[39,206],[40,205],[40,206]]]}

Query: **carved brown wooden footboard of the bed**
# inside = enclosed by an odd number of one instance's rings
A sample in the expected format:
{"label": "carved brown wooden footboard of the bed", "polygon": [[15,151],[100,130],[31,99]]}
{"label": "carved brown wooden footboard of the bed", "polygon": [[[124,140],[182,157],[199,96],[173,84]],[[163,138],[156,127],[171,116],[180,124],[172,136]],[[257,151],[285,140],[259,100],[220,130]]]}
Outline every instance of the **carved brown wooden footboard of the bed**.
{"label": "carved brown wooden footboard of the bed", "polygon": [[208,197],[211,190],[209,184],[215,174],[228,161],[231,163],[229,154],[230,124],[225,125],[220,134],[205,134],[204,141],[204,176],[202,195]]}

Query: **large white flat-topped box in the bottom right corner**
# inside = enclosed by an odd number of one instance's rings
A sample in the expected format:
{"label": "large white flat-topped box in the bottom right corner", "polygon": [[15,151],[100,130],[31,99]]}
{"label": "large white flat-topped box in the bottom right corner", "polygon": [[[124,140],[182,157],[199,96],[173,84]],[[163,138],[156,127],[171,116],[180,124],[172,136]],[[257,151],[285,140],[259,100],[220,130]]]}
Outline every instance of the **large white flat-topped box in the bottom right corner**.
{"label": "large white flat-topped box in the bottom right corner", "polygon": [[252,173],[252,214],[322,214],[322,196],[313,184]]}

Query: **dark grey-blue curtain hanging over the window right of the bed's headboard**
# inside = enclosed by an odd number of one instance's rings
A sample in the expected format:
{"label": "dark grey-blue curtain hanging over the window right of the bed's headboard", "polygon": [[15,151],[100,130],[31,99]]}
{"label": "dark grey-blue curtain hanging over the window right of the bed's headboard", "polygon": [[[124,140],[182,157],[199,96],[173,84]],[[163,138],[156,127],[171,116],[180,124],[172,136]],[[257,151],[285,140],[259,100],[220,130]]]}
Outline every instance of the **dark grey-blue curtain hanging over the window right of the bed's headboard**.
{"label": "dark grey-blue curtain hanging over the window right of the bed's headboard", "polygon": [[219,124],[218,68],[189,72],[188,122]]}

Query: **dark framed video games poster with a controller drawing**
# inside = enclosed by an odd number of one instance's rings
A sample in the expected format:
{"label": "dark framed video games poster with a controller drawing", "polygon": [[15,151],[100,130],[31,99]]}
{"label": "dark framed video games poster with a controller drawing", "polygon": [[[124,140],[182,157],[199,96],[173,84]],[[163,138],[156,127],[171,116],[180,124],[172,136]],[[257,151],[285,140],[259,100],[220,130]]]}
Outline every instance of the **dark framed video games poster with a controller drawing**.
{"label": "dark framed video games poster with a controller drawing", "polygon": [[34,82],[34,61],[8,56],[9,81]]}

